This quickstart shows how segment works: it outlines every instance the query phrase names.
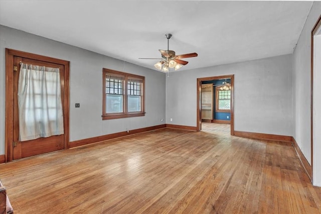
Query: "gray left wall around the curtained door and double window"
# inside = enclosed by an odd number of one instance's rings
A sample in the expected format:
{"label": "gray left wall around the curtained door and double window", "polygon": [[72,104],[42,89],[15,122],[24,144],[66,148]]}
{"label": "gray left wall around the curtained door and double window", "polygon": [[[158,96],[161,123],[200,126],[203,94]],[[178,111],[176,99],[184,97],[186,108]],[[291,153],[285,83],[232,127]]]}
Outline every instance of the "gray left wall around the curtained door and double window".
{"label": "gray left wall around the curtained door and double window", "polygon": [[[165,123],[164,73],[5,26],[0,38],[0,154],[5,154],[5,48],[70,61],[70,141]],[[145,76],[145,117],[102,121],[103,67]]]}

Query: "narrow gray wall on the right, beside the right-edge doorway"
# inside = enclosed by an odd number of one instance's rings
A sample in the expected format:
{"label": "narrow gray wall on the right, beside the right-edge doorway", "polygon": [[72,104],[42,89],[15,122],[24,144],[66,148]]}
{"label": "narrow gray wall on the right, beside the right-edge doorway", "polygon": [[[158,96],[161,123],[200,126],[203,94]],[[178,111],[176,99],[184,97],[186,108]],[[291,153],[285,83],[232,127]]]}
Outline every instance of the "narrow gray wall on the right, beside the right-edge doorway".
{"label": "narrow gray wall on the right, beside the right-edge doorway", "polygon": [[[293,52],[293,137],[309,163],[311,163],[311,30],[320,17],[320,12],[321,2],[314,2]],[[319,91],[316,93],[319,94]],[[315,153],[314,156],[316,155],[320,156],[319,153]],[[318,165],[318,171],[321,171],[320,163],[320,159],[313,163],[315,166]],[[315,169],[313,174],[314,172]],[[321,178],[318,181],[321,183]]]}

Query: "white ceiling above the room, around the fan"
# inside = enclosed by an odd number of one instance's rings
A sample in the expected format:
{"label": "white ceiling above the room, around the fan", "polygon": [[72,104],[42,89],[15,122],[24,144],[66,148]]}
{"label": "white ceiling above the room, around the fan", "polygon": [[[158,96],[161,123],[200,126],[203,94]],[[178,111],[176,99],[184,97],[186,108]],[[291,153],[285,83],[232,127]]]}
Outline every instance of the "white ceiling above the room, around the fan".
{"label": "white ceiling above the room, around the fan", "polygon": [[155,69],[158,49],[193,69],[293,52],[313,2],[0,1],[0,24]]}

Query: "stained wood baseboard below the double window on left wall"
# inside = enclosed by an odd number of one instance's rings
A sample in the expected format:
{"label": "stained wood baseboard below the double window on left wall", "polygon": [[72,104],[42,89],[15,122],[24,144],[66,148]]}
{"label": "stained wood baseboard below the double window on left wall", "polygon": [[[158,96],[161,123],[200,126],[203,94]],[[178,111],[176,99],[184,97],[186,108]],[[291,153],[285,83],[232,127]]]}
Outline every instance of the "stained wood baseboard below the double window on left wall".
{"label": "stained wood baseboard below the double window on left wall", "polygon": [[140,129],[129,130],[128,132],[126,132],[126,131],[117,132],[117,133],[97,136],[97,137],[93,137],[93,138],[86,138],[86,139],[82,139],[82,140],[71,141],[69,148],[84,146],[84,145],[88,145],[88,144],[92,144],[92,143],[98,143],[101,141],[125,137],[125,136],[129,136],[129,135],[133,135],[133,134],[137,134],[137,133],[142,133],[142,132],[148,132],[148,131],[152,131],[152,130],[156,130],[156,129],[162,129],[165,127],[166,127],[166,125],[163,124],[163,125],[158,125],[158,126],[150,126],[150,127],[140,128]]}

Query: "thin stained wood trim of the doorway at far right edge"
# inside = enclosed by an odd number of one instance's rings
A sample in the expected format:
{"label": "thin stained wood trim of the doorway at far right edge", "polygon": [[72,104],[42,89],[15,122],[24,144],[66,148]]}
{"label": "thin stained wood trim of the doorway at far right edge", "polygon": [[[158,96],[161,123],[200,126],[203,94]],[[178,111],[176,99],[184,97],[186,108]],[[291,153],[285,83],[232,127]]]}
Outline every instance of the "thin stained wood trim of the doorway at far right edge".
{"label": "thin stained wood trim of the doorway at far right edge", "polygon": [[[314,24],[312,30],[311,30],[311,169],[313,169],[313,36],[316,33],[317,29],[321,26],[321,15],[319,16],[317,22]],[[313,180],[313,170],[311,170],[311,174],[309,175],[311,181]]]}

